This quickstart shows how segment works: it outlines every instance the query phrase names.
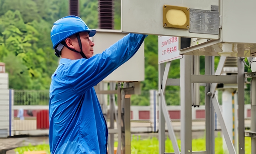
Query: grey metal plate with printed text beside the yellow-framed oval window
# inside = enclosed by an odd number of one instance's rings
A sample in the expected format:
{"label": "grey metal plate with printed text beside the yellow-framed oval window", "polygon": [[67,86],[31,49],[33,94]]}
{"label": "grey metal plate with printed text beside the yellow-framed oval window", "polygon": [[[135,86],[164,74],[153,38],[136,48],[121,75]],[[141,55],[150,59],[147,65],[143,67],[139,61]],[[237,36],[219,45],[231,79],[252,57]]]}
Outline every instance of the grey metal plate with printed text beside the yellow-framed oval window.
{"label": "grey metal plate with printed text beside the yellow-framed oval window", "polygon": [[189,32],[200,34],[219,34],[219,12],[190,9]]}

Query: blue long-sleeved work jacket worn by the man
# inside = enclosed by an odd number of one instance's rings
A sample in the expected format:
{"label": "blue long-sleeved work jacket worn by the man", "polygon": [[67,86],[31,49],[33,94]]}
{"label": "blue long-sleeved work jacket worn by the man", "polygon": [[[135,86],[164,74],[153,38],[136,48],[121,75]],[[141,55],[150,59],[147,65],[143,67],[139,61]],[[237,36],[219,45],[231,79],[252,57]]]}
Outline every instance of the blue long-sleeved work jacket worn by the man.
{"label": "blue long-sleeved work jacket worn by the man", "polygon": [[89,59],[62,58],[49,89],[51,154],[106,154],[108,127],[93,86],[129,60],[143,34],[128,34]]}

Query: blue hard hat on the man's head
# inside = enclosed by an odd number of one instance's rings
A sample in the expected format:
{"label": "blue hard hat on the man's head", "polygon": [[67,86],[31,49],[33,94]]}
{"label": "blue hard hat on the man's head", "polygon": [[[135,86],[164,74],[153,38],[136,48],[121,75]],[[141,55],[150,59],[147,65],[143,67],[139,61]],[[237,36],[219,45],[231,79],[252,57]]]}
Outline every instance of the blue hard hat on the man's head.
{"label": "blue hard hat on the man's head", "polygon": [[67,37],[79,32],[88,32],[89,37],[93,37],[96,34],[96,30],[89,29],[80,17],[70,15],[57,20],[53,24],[51,31],[53,48]]}

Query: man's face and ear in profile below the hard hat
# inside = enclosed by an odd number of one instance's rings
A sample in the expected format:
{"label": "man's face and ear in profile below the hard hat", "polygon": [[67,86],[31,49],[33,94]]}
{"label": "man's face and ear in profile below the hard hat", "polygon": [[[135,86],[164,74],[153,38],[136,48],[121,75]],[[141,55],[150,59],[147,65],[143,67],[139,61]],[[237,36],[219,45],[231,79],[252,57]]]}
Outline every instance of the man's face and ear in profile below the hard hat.
{"label": "man's face and ear in profile below the hard hat", "polygon": [[[89,34],[87,32],[81,32],[81,33],[79,33],[79,35],[80,35],[80,39],[81,39],[82,49],[83,49],[85,56],[87,58],[93,57],[94,43],[89,39]],[[77,38],[75,37],[72,40],[74,41],[75,50],[81,51]]]}

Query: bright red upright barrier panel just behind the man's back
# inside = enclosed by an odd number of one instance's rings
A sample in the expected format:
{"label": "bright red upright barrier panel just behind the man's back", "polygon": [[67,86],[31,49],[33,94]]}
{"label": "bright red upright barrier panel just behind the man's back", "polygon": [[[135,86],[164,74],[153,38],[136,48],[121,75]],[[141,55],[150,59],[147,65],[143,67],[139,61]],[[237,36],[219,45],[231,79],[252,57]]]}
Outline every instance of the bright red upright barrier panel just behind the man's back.
{"label": "bright red upright barrier panel just behind the man's back", "polygon": [[37,113],[37,129],[49,129],[49,111],[41,110]]}

